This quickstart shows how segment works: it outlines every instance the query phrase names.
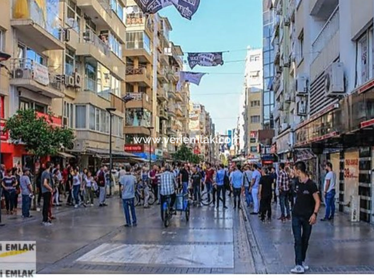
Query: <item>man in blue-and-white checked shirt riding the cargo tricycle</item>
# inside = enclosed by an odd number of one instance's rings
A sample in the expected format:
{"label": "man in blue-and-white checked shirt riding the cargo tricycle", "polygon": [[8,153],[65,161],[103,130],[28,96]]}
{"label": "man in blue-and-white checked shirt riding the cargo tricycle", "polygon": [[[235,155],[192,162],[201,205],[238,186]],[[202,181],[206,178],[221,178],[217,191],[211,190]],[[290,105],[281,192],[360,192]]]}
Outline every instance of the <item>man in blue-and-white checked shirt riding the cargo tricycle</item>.
{"label": "man in blue-and-white checked shirt riding the cargo tricycle", "polygon": [[171,172],[171,167],[169,164],[165,165],[165,172],[159,174],[158,181],[160,185],[160,199],[161,199],[161,216],[163,206],[162,204],[168,199],[171,198],[170,207],[174,207],[175,199],[177,195],[175,194],[175,188],[177,187],[177,182],[175,181],[175,176]]}

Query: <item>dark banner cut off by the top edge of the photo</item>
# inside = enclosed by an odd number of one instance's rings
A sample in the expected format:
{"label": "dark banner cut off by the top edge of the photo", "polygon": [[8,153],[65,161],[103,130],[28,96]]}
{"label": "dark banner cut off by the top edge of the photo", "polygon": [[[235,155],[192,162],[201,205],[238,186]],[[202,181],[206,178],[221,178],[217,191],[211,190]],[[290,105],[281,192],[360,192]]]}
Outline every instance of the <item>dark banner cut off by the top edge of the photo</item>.
{"label": "dark banner cut off by the top edge of the photo", "polygon": [[164,7],[174,5],[184,18],[190,19],[196,13],[200,0],[134,0],[144,13],[157,13]]}

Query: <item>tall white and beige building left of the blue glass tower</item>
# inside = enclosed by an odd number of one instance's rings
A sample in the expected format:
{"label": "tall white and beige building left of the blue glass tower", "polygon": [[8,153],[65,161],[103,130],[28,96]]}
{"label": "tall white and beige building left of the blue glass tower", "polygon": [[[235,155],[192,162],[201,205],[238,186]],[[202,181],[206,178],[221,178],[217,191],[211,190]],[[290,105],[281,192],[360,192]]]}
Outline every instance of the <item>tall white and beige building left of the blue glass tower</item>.
{"label": "tall white and beige building left of the blue glass tower", "polygon": [[[258,130],[263,119],[263,50],[248,49],[245,66],[245,84],[239,119],[240,146],[245,157],[259,157]],[[270,110],[269,110],[270,111]],[[242,142],[240,142],[242,144]]]}

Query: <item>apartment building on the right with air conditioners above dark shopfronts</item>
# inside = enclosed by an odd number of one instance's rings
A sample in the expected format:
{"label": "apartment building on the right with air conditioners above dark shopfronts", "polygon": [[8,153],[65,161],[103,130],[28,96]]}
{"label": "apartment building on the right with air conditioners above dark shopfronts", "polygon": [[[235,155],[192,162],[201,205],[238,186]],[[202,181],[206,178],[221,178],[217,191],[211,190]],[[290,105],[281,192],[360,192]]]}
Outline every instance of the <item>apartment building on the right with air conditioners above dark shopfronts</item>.
{"label": "apartment building on the right with air conditioners above dark shopfronts", "polygon": [[373,222],[374,2],[272,4],[280,16],[277,78],[283,86],[276,92],[278,155],[305,160],[320,186],[331,161],[339,210],[356,210],[354,220]]}

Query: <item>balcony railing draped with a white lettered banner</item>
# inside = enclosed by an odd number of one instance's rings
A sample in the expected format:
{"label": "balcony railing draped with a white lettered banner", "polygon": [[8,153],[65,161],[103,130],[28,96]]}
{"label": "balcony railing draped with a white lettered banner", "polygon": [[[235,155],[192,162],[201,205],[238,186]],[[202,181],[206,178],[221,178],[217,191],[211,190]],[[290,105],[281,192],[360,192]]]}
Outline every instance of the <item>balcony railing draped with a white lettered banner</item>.
{"label": "balcony railing draped with a white lettered banner", "polygon": [[10,70],[12,79],[34,80],[44,86],[62,91],[62,75],[50,72],[46,66],[32,59],[12,59]]}

